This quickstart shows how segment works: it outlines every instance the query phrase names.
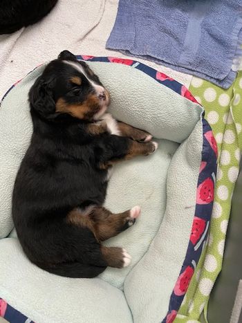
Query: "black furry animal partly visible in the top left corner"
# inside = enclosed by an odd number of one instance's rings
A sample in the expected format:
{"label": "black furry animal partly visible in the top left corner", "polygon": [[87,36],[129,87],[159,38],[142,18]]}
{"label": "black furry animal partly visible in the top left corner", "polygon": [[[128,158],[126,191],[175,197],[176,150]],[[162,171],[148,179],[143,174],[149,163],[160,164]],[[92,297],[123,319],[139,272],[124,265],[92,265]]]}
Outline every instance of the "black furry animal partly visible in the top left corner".
{"label": "black furry animal partly visible in the top left corner", "polygon": [[1,0],[0,34],[10,34],[35,24],[52,10],[57,0]]}

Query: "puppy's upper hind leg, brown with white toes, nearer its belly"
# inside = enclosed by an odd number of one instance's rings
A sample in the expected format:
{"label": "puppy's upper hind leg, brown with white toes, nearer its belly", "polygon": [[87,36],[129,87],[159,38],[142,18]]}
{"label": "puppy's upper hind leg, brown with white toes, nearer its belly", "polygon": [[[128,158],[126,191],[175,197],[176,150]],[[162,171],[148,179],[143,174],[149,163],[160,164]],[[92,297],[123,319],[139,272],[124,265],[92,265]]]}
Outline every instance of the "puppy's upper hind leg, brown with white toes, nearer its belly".
{"label": "puppy's upper hind leg, brown with white toes, nearer its belly", "polygon": [[87,217],[93,225],[96,239],[104,241],[131,227],[139,215],[139,206],[118,214],[113,214],[105,207],[98,206],[93,207]]}

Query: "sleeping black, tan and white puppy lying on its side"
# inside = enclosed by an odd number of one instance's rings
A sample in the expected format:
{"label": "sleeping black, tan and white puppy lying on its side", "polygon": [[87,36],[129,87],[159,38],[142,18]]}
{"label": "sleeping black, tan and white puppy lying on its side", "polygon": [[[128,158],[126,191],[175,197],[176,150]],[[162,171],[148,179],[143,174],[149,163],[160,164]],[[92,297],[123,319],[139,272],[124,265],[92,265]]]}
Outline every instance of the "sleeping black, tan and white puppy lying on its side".
{"label": "sleeping black, tan and white puppy lying on its side", "polygon": [[140,207],[102,206],[114,163],[152,154],[151,135],[106,113],[109,93],[84,62],[64,50],[29,93],[33,133],[12,196],[12,216],[32,263],[66,277],[95,277],[128,266],[102,241],[136,222]]}

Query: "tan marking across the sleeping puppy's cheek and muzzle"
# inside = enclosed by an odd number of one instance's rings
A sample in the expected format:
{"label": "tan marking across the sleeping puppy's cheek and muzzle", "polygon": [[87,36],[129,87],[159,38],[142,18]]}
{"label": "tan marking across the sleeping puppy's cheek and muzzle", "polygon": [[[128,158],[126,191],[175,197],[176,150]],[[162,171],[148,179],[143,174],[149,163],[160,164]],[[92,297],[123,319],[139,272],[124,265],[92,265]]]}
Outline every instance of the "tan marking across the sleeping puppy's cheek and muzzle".
{"label": "tan marking across the sleeping puppy's cheek and muzzle", "polygon": [[100,100],[95,94],[87,95],[86,100],[82,103],[68,103],[64,98],[59,98],[56,102],[57,112],[69,113],[82,120],[91,120],[100,109]]}

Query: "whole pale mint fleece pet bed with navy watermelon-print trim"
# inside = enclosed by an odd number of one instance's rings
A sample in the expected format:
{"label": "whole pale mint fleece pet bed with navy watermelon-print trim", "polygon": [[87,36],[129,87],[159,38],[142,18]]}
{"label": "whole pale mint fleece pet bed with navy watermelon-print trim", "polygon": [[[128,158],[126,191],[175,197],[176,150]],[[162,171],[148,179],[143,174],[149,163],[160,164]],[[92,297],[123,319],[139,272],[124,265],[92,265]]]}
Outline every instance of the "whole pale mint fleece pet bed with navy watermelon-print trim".
{"label": "whole pale mint fleece pet bed with navy watermelon-print trim", "polygon": [[44,70],[39,66],[1,102],[0,315],[16,308],[35,322],[173,322],[207,239],[217,156],[212,130],[201,105],[171,77],[131,59],[77,58],[111,93],[113,116],[159,143],[156,154],[116,165],[106,196],[113,212],[142,208],[133,228],[106,241],[133,259],[95,279],[58,277],[30,264],[11,232],[12,187],[32,133],[28,91]]}

